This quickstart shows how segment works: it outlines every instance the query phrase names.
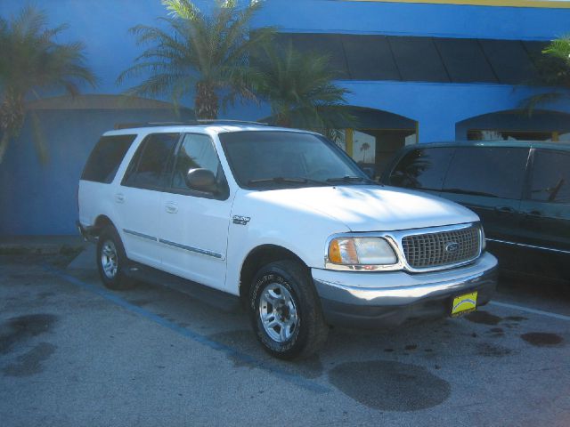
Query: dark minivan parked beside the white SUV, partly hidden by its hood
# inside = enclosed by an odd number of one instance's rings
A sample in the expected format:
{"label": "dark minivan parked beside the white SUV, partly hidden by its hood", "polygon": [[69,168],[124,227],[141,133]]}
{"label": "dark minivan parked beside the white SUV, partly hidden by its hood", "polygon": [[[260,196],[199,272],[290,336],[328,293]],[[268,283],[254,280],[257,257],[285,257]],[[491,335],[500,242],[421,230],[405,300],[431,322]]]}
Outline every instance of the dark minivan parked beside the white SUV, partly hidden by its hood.
{"label": "dark minivan parked beside the white SUV, partly hidden by its hood", "polygon": [[570,144],[422,144],[400,151],[381,181],[475,211],[502,269],[570,281]]}

